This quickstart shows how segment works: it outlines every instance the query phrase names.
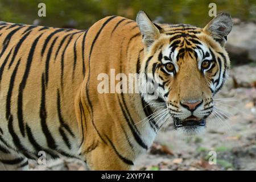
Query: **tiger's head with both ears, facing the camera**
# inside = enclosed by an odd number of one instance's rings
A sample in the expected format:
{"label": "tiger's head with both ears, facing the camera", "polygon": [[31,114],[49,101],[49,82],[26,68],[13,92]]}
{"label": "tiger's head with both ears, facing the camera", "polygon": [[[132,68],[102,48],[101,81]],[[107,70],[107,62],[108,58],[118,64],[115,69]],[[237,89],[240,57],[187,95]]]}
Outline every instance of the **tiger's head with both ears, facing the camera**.
{"label": "tiger's head with both ears, facing the camera", "polygon": [[140,11],[137,24],[144,44],[141,93],[158,112],[156,123],[171,119],[177,130],[199,133],[213,111],[214,94],[228,77],[230,60],[224,46],[233,26],[230,15],[218,14],[198,28],[155,24]]}

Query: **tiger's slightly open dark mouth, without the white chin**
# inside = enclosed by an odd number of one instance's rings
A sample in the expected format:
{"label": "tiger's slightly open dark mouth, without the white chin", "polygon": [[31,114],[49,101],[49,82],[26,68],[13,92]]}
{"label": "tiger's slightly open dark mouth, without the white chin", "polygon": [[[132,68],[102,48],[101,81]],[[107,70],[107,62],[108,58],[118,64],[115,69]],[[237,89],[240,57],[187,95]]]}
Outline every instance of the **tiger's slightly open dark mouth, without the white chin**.
{"label": "tiger's slightly open dark mouth, without the white chin", "polygon": [[195,116],[190,116],[183,121],[181,121],[179,118],[174,118],[174,126],[175,128],[178,127],[195,127],[195,126],[205,126],[205,118],[199,119],[196,118]]}

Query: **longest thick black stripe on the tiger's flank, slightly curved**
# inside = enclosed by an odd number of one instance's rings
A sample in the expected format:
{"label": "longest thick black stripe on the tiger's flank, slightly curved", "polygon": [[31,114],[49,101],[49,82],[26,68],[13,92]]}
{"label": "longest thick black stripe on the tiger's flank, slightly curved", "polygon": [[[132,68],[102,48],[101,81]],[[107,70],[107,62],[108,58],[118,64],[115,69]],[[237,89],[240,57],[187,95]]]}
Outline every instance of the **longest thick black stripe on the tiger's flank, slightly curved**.
{"label": "longest thick black stripe on the tiger's flank, slightly curved", "polygon": [[38,44],[38,40],[40,39],[41,36],[42,36],[42,34],[39,35],[35,39],[35,41],[33,42],[32,46],[30,48],[30,52],[29,52],[28,57],[27,57],[27,64],[26,64],[25,72],[24,72],[24,75],[22,77],[22,81],[19,84],[17,115],[18,115],[19,129],[20,129],[20,132],[22,133],[23,137],[25,136],[24,121],[23,121],[23,109],[22,109],[22,107],[23,107],[23,90],[26,86],[27,78],[28,78],[28,75],[30,73],[30,67],[31,67],[33,56],[34,56],[34,51],[35,51],[35,48],[36,48],[36,44]]}

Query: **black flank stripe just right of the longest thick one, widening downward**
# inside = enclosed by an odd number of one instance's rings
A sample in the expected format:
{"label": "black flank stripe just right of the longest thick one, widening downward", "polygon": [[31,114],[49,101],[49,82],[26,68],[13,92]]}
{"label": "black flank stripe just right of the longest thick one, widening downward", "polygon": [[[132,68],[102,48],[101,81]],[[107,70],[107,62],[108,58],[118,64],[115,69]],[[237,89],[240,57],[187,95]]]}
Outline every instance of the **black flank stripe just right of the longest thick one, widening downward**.
{"label": "black flank stripe just right of the longest thick one, widening downward", "polygon": [[53,139],[47,123],[46,123],[46,119],[47,119],[47,111],[46,111],[46,89],[45,89],[45,80],[44,80],[44,73],[42,74],[42,93],[41,93],[41,105],[40,105],[40,120],[41,120],[41,126],[42,126],[42,130],[43,133],[46,137],[47,140],[47,145],[49,148],[52,149],[56,149],[56,143],[55,140]]}

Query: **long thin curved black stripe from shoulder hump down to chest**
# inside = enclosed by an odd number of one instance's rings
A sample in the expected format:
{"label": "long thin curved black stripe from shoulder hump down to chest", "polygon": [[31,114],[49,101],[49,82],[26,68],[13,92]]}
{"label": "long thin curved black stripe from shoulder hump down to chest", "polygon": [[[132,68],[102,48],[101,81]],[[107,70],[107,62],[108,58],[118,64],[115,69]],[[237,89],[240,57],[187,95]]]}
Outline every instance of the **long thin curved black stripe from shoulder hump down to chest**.
{"label": "long thin curved black stripe from shoulder hump down to chest", "polygon": [[92,51],[93,51],[93,47],[94,47],[94,44],[96,43],[96,40],[98,39],[98,36],[100,35],[101,31],[103,30],[103,28],[106,26],[106,24],[108,24],[110,22],[110,20],[114,19],[115,17],[117,16],[110,16],[110,18],[108,18],[101,26],[100,30],[97,32],[96,36],[94,37],[93,39],[93,42],[92,42],[92,46],[90,47],[90,53],[89,53],[89,63],[88,63],[88,69],[89,69],[89,73],[88,73],[88,80],[86,82],[86,97],[87,97],[87,100],[88,100],[88,103],[89,103],[89,106],[90,106],[90,114],[91,114],[91,118],[92,118],[92,124],[93,124],[93,127],[94,129],[97,131],[97,134],[98,136],[101,138],[101,140],[106,144],[106,141],[101,137],[101,134],[100,132],[98,131],[94,121],[93,121],[93,106],[92,106],[92,102],[90,101],[90,98],[89,98],[89,80],[90,80],[90,56],[92,55]]}

